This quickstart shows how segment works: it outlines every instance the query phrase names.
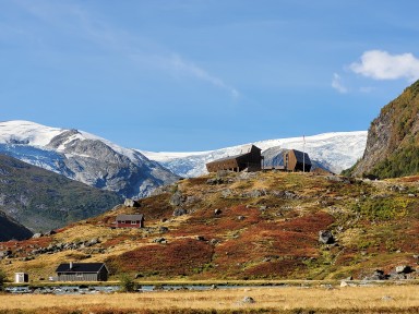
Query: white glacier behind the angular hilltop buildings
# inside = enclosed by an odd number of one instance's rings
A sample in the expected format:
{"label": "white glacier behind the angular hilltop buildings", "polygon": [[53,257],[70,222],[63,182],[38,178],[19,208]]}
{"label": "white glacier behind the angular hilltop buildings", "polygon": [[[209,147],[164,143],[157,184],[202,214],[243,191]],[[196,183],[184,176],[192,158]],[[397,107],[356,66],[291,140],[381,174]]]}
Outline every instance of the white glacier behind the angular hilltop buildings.
{"label": "white glacier behind the angular hilltop buildings", "polygon": [[[301,136],[267,140],[252,144],[262,150],[271,147],[304,150],[316,165],[339,173],[362,157],[367,144],[367,131],[324,133],[304,138]],[[193,153],[140,152],[181,177],[199,177],[207,172],[205,164],[240,154],[242,146]]]}

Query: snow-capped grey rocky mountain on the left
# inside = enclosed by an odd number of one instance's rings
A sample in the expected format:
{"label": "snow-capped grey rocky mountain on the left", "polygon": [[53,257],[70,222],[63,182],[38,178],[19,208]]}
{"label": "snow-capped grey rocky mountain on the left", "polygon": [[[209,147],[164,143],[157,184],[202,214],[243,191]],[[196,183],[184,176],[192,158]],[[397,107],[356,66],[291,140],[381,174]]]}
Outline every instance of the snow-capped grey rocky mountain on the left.
{"label": "snow-capped grey rocky mountain on the left", "polygon": [[137,150],[83,131],[29,121],[0,122],[0,153],[123,197],[143,197],[178,180]]}

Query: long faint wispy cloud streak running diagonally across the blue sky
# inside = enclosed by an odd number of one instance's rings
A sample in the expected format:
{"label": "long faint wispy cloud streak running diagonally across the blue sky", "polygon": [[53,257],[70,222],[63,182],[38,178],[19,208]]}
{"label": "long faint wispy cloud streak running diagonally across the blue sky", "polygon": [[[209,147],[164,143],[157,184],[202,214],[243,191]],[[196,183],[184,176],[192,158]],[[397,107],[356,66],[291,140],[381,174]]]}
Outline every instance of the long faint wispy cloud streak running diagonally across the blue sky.
{"label": "long faint wispy cloud streak running diagonally across the blue sky", "polygon": [[39,8],[38,2],[33,4],[33,1],[28,0],[17,1],[23,9],[52,24],[55,28],[72,32],[74,36],[85,38],[104,49],[117,51],[122,58],[129,58],[136,64],[147,64],[147,67],[163,68],[171,73],[189,75],[227,92],[234,100],[240,97],[240,93],[235,87],[193,62],[171,53],[169,49],[153,39],[113,27],[106,22],[106,19],[93,16],[81,5],[65,5],[61,2],[51,4],[40,0],[44,5]]}

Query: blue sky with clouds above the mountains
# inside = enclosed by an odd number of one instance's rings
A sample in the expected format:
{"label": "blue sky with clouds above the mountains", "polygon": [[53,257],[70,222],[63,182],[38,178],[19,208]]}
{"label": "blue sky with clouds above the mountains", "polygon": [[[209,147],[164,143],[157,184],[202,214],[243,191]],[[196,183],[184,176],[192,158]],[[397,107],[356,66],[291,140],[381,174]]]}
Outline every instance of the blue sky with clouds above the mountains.
{"label": "blue sky with clouds above the mountains", "polygon": [[0,0],[0,120],[146,150],[368,130],[419,78],[411,0]]}

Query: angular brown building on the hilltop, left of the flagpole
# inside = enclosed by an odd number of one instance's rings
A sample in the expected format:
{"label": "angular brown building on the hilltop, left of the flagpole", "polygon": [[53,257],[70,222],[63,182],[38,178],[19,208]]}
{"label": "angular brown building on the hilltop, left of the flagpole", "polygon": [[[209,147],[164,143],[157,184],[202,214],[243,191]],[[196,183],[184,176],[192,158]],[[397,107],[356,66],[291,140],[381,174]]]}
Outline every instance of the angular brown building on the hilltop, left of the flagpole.
{"label": "angular brown building on the hilltop, left of the flagpole", "polygon": [[261,148],[254,145],[244,146],[239,155],[229,156],[206,164],[208,172],[217,172],[218,170],[231,171],[260,171],[262,169]]}

